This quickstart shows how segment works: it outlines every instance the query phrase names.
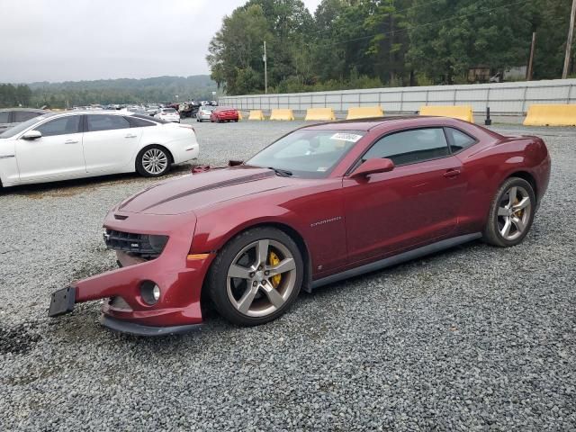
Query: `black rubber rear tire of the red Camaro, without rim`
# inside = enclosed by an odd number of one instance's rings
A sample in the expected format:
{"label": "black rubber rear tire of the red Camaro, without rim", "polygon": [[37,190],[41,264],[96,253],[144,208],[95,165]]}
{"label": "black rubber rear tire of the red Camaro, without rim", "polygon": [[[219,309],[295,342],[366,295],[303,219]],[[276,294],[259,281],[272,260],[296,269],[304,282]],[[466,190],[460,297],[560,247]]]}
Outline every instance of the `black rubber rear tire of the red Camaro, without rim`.
{"label": "black rubber rear tire of the red Camaro, without rim", "polygon": [[[506,206],[506,202],[509,201],[509,191],[512,188],[516,187],[517,191],[521,191],[520,193],[526,193],[527,197],[529,198],[529,208],[525,209],[526,215],[522,214],[522,220],[525,220],[522,223],[524,227],[521,231],[518,229],[515,223],[512,223],[512,229],[515,229],[515,232],[518,234],[515,238],[506,238],[503,236],[500,229],[503,229],[504,224],[506,223],[507,216],[499,216],[499,210],[503,206]],[[517,192],[518,193],[518,192]],[[507,198],[508,197],[508,198]],[[504,209],[503,209],[504,211]],[[523,211],[523,212],[524,212]],[[484,227],[482,239],[493,246],[498,247],[510,247],[516,246],[526,238],[530,227],[532,226],[532,222],[534,221],[534,214],[536,211],[536,193],[534,193],[534,189],[532,185],[529,184],[526,180],[519,177],[509,177],[503,184],[500,185],[498,192],[495,194],[494,198],[492,199],[490,212],[488,214],[488,220],[486,221],[486,226]],[[519,220],[520,218],[516,217],[518,213],[514,213],[511,216],[515,216],[515,220]]]}

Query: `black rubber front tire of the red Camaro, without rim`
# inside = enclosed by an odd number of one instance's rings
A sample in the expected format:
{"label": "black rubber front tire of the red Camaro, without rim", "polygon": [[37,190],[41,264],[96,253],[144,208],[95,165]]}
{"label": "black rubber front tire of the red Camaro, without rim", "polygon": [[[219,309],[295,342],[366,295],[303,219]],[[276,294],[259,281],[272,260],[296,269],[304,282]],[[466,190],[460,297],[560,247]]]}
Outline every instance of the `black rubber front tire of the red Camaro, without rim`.
{"label": "black rubber front tire of the red Camaro, without rim", "polygon": [[[285,280],[286,284],[284,284],[284,290],[291,289],[291,291],[284,291],[286,299],[282,306],[278,307],[275,311],[271,311],[266,316],[248,316],[247,314],[240,312],[229,298],[229,284],[230,287],[232,284],[232,279],[229,281],[228,278],[229,268],[232,264],[235,264],[233,261],[237,258],[238,254],[242,252],[242,250],[258,240],[266,239],[271,242],[270,250],[274,247],[272,242],[276,242],[276,244],[285,247],[293,257],[293,264],[295,265],[295,270],[293,271],[295,271],[295,273],[291,274],[290,277]],[[266,250],[266,255],[267,254],[268,251]],[[214,303],[216,311],[218,311],[226,320],[239,326],[257,326],[275,320],[288,311],[290,306],[292,306],[293,302],[296,300],[296,297],[298,297],[298,293],[300,293],[303,274],[304,265],[302,263],[300,250],[294,240],[284,233],[284,231],[269,227],[247,229],[238,234],[235,238],[232,238],[226,246],[222,247],[218,256],[214,259],[208,275],[207,293],[210,296],[211,301]],[[252,273],[251,275],[255,274]],[[293,279],[291,279],[292,277]],[[246,291],[250,289],[250,282],[244,281],[243,279],[239,279],[239,281],[240,284],[245,284],[243,285],[244,288],[240,287],[240,293],[246,293]],[[291,285],[292,282],[293,285]],[[272,286],[270,284],[271,282],[268,282],[268,286]],[[290,288],[291,286],[292,288]],[[282,286],[279,285],[278,288],[282,289]],[[260,297],[255,298],[251,304],[261,302],[266,306],[266,302],[269,301],[264,291],[264,285],[261,285],[256,289],[258,290],[257,295]],[[269,307],[272,307],[271,303]],[[248,311],[247,313],[252,312]]]}

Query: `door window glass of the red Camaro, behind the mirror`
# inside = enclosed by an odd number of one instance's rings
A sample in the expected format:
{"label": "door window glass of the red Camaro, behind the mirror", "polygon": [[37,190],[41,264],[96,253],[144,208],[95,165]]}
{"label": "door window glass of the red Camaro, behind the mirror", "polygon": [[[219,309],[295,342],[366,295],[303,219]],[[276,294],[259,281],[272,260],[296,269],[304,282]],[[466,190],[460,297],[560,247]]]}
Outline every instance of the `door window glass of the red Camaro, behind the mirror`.
{"label": "door window glass of the red Camaro, behind the mirror", "polygon": [[442,128],[405,130],[386,135],[376,141],[362,157],[387,157],[394,165],[414,164],[449,155],[448,143]]}

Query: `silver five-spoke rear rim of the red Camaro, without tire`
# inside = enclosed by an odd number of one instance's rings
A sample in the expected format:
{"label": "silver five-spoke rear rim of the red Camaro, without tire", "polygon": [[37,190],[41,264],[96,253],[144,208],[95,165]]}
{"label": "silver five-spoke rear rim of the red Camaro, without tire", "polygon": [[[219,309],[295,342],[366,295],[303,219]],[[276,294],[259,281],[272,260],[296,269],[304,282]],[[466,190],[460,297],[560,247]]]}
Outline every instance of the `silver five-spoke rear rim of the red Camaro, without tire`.
{"label": "silver five-spoke rear rim of the red Camaro, without tire", "polygon": [[512,186],[498,207],[498,229],[505,240],[515,240],[526,230],[532,214],[530,195],[522,186]]}

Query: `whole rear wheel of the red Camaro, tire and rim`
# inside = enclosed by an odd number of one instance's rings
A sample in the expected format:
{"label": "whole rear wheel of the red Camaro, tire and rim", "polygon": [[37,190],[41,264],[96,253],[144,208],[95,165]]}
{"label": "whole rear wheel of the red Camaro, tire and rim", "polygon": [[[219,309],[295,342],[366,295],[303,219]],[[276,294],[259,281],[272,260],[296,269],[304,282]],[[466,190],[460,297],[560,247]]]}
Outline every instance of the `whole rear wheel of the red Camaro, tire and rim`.
{"label": "whole rear wheel of the red Camaro, tire and rim", "polygon": [[518,245],[528,233],[536,211],[536,194],[523,178],[510,177],[491,203],[483,238],[499,247]]}

